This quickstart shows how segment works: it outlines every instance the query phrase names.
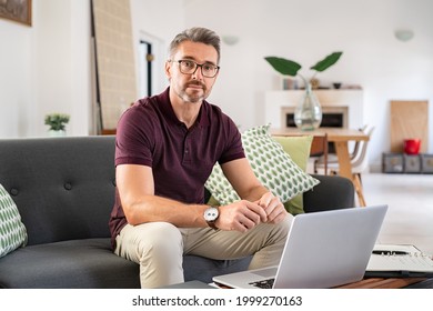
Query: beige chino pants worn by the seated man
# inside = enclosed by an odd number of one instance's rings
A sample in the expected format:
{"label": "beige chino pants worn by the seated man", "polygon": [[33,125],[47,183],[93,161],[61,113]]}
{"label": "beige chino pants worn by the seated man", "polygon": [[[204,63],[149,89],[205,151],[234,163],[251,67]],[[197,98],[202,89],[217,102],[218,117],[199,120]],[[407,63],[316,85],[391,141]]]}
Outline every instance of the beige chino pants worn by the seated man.
{"label": "beige chino pants worn by the seated man", "polygon": [[211,228],[177,228],[167,222],[127,224],[114,253],[140,264],[142,288],[183,282],[183,254],[239,259],[253,254],[249,269],[279,264],[292,215],[278,224],[261,223],[245,233]]}

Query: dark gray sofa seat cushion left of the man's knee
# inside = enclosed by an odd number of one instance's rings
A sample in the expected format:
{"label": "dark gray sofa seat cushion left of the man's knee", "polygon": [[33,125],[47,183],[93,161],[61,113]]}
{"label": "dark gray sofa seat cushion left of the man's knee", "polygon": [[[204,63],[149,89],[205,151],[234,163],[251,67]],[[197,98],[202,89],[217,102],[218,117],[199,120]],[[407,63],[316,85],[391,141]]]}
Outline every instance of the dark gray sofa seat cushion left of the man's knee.
{"label": "dark gray sofa seat cushion left of the man's knee", "polygon": [[109,238],[18,249],[0,259],[0,288],[140,288],[139,265],[113,254]]}

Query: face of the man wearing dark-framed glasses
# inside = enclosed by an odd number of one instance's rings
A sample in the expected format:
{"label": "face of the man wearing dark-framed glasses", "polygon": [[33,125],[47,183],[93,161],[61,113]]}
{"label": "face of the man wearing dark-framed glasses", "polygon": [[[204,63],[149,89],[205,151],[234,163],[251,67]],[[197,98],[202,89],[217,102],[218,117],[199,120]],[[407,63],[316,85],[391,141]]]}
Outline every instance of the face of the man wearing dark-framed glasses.
{"label": "face of the man wearing dark-framed glasses", "polygon": [[199,67],[194,73],[182,73],[179,60],[192,60],[199,64],[210,63],[216,66],[218,52],[212,46],[192,41],[182,42],[178,51],[171,57],[171,62],[165,63],[165,74],[170,80],[170,88],[182,101],[202,102],[211,93],[216,77],[203,77]]}

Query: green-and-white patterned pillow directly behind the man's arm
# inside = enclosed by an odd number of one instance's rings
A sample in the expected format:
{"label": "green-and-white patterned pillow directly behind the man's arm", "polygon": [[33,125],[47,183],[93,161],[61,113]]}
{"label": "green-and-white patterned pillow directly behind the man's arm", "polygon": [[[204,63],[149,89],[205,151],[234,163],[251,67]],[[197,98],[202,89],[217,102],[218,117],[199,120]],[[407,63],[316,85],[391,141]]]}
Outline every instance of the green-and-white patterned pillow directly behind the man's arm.
{"label": "green-and-white patterned pillow directly behind the man's arm", "polygon": [[[262,126],[246,130],[242,133],[242,143],[246,159],[258,179],[284,203],[296,194],[312,189],[319,180],[305,173],[292,161],[281,144],[269,134],[269,127]],[[218,163],[205,188],[222,205],[240,200]]]}

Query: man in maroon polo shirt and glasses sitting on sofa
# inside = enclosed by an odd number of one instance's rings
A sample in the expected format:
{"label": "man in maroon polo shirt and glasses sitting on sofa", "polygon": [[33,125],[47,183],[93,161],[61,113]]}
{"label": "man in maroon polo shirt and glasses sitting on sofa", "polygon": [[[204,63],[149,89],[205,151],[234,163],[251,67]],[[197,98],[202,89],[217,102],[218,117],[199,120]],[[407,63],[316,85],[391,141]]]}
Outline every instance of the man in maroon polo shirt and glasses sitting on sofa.
{"label": "man in maroon polo shirt and glasses sitting on sofa", "polygon": [[[205,99],[218,78],[220,38],[192,28],[170,46],[169,88],[120,119],[114,252],[140,264],[142,288],[183,282],[182,255],[278,264],[291,217],[255,178],[234,122]],[[209,207],[204,183],[215,162],[241,201]]]}

